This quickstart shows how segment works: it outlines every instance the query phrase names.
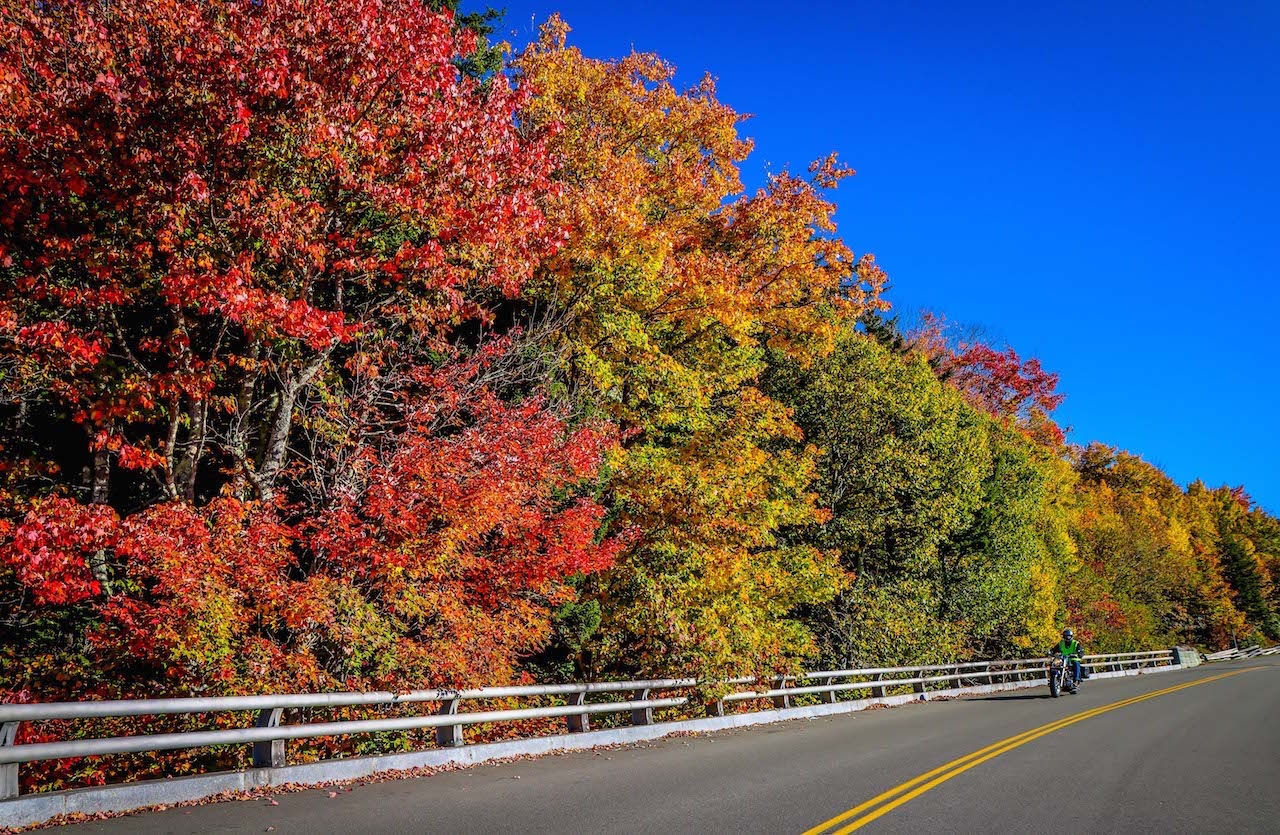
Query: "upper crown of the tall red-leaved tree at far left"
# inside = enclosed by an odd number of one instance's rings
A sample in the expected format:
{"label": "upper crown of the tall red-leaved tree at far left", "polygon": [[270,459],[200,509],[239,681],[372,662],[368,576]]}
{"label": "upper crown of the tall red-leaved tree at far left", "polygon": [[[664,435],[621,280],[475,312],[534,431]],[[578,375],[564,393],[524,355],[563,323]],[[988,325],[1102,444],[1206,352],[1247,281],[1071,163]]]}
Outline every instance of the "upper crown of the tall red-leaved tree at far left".
{"label": "upper crown of the tall red-leaved tree at far left", "polygon": [[527,91],[458,73],[474,35],[420,0],[20,4],[0,41],[0,328],[170,497],[175,446],[278,402],[244,378],[408,310],[443,339],[561,239]]}

